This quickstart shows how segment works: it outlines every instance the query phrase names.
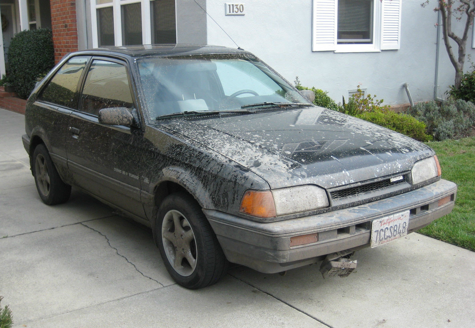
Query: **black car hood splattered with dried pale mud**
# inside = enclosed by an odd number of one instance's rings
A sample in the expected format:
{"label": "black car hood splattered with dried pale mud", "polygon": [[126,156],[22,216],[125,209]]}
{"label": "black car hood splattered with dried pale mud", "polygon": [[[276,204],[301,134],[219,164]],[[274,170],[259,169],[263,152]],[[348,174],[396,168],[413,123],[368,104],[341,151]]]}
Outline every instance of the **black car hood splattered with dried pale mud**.
{"label": "black car hood splattered with dried pale mud", "polygon": [[273,189],[329,188],[411,169],[433,155],[424,144],[321,107],[173,118],[161,126],[266,179]]}

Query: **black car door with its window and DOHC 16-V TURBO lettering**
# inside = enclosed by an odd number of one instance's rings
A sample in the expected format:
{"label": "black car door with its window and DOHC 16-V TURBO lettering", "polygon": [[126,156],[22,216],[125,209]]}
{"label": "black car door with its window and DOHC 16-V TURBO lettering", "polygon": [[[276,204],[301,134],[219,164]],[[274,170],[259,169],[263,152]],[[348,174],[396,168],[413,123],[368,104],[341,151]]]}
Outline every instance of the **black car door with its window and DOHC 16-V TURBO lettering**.
{"label": "black car door with its window and DOHC 16-V TURBO lettering", "polygon": [[103,108],[134,105],[125,61],[93,57],[87,67],[78,110],[69,116],[66,152],[75,185],[124,211],[144,217],[140,201],[139,126],[98,122]]}

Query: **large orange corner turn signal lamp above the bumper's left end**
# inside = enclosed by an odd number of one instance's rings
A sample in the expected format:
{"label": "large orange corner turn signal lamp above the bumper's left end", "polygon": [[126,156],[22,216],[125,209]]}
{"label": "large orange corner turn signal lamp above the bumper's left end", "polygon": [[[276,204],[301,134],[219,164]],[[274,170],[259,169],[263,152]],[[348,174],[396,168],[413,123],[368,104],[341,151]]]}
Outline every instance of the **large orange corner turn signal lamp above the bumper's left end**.
{"label": "large orange corner turn signal lamp above the bumper's left end", "polygon": [[242,197],[240,213],[256,217],[276,217],[274,197],[269,191],[247,190]]}

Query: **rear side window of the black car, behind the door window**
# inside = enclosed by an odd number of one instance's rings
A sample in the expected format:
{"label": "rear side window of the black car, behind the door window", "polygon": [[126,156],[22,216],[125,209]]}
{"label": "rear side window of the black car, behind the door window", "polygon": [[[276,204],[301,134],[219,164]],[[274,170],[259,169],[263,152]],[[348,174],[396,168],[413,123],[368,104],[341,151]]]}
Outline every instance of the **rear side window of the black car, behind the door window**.
{"label": "rear side window of the black car, behind the door window", "polygon": [[89,56],[76,56],[61,66],[49,81],[39,100],[76,109],[77,84],[84,72]]}

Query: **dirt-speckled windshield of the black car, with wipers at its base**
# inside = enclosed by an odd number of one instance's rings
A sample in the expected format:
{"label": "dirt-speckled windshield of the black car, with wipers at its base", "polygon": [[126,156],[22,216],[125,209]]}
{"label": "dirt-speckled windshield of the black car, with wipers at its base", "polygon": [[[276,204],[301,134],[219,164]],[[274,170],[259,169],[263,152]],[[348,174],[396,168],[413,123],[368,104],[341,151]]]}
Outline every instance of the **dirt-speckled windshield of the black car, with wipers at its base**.
{"label": "dirt-speckled windshield of the black car, with wipers at its base", "polygon": [[180,112],[244,111],[308,103],[295,88],[247,54],[137,60],[150,119]]}

